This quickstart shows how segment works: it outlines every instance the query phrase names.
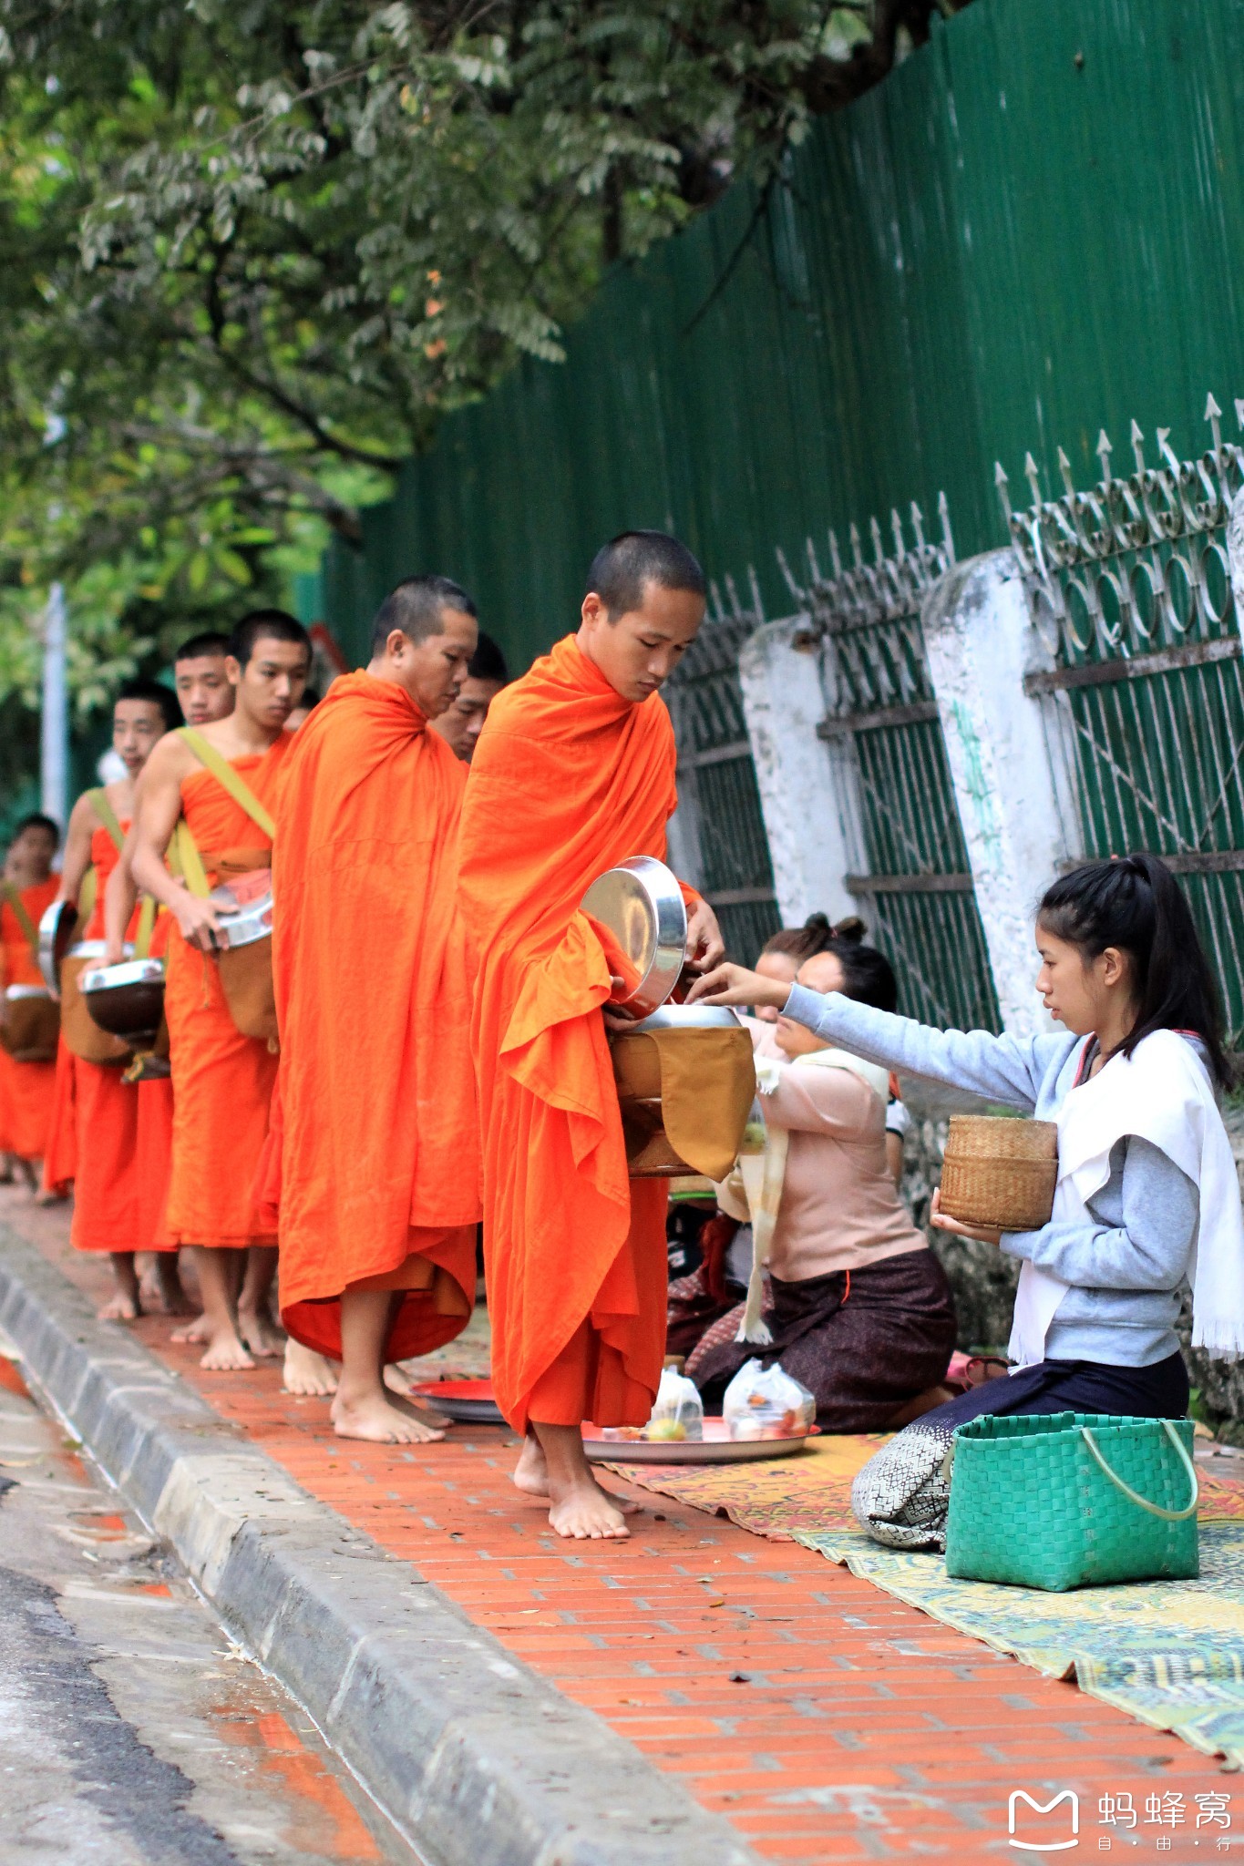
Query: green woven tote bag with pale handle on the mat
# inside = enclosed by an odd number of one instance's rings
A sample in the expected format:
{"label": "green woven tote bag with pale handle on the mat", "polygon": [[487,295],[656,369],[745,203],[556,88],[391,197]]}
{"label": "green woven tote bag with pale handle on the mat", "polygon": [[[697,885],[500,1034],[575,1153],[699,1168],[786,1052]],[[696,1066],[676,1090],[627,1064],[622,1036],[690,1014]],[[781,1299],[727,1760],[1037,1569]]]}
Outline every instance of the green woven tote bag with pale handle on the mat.
{"label": "green woven tote bag with pale handle on the mat", "polygon": [[987,1413],[947,1457],[947,1575],[1065,1594],[1201,1571],[1188,1418]]}

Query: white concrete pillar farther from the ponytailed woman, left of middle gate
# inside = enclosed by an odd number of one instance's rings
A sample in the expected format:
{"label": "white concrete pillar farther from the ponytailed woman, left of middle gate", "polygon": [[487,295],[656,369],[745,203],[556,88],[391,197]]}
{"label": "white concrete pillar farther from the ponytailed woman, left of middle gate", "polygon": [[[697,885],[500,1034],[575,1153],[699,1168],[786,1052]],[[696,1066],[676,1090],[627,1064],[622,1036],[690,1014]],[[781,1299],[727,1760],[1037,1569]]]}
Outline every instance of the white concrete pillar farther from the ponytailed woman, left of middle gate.
{"label": "white concrete pillar farther from the ponytailed woman, left of middle gate", "polygon": [[806,616],[767,621],[739,655],[742,711],[783,926],[822,911],[854,914],[850,769],[817,737],[824,718],[821,642]]}

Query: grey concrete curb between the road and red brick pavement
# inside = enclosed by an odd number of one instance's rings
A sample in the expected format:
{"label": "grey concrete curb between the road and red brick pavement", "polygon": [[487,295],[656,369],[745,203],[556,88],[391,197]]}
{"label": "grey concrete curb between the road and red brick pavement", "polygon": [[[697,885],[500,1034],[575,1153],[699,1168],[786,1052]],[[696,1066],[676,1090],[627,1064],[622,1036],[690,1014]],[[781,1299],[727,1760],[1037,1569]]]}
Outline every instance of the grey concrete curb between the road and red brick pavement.
{"label": "grey concrete curb between the road and red brick pavement", "polygon": [[97,1321],[32,1245],[9,1228],[0,1245],[0,1327],[32,1385],[418,1853],[435,1866],[757,1866],[727,1821]]}

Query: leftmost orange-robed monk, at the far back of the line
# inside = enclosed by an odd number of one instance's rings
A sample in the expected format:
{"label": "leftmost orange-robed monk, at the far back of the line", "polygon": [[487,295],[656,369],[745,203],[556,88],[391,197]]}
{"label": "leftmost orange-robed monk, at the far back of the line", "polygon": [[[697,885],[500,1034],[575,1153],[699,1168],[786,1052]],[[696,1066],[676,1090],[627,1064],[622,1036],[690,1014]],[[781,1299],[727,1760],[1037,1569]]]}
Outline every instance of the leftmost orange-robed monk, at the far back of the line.
{"label": "leftmost orange-robed monk, at the far back of the line", "polygon": [[[60,890],[52,873],[58,843],[60,829],[47,815],[22,817],[13,830],[0,907],[0,985],[6,991],[43,985],[37,927]],[[0,1153],[9,1157],[9,1177],[17,1168],[32,1191],[39,1183],[35,1161],[47,1148],[54,1088],[54,1062],[15,1062],[0,1049]]]}

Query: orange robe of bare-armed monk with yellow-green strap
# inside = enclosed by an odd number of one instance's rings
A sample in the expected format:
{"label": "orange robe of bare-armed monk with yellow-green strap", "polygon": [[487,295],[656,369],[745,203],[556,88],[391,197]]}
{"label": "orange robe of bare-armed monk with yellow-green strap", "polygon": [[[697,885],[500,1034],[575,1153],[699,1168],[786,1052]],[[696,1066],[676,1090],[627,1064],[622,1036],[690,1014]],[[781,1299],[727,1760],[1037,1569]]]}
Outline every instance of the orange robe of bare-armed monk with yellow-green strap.
{"label": "orange robe of bare-armed monk with yellow-green strap", "polygon": [[[293,733],[282,733],[267,752],[231,759],[269,812],[276,808],[293,743]],[[181,810],[213,886],[222,871],[265,866],[263,830],[211,771],[183,778]],[[252,1187],[269,1131],[276,1054],[237,1030],[214,959],[187,946],[175,922],[168,935],[164,1017],[173,1071],[170,1241],[218,1250],[274,1243],[256,1224]]]}

